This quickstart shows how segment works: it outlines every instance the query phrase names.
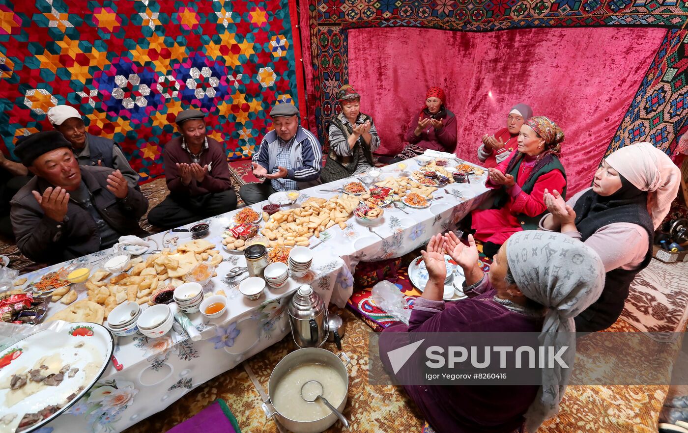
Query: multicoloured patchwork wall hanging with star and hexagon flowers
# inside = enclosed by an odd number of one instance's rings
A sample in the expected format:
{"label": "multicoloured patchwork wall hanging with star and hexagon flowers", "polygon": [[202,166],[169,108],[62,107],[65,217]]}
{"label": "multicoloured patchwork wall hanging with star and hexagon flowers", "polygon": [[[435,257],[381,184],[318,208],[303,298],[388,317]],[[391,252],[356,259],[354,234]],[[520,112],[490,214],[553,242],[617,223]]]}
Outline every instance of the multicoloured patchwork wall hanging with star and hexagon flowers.
{"label": "multicoloured patchwork wall hanging with star and hexagon flowers", "polygon": [[287,3],[1,2],[1,150],[50,129],[47,110],[69,104],[90,133],[122,146],[142,181],[163,174],[162,146],[188,108],[207,113],[228,159],[249,156],[269,131],[266,111],[297,103]]}

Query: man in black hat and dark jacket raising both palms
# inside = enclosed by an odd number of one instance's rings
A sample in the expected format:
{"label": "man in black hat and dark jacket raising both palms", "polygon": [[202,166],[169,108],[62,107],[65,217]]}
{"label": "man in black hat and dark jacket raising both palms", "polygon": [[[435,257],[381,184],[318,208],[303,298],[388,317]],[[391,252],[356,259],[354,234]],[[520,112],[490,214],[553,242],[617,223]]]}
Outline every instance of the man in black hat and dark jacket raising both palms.
{"label": "man in black hat and dark jacket raising both palms", "polygon": [[120,170],[80,166],[58,131],[30,135],[14,148],[35,176],[10,202],[19,250],[38,263],[109,248],[122,235],[147,236],[138,225],[148,209]]}

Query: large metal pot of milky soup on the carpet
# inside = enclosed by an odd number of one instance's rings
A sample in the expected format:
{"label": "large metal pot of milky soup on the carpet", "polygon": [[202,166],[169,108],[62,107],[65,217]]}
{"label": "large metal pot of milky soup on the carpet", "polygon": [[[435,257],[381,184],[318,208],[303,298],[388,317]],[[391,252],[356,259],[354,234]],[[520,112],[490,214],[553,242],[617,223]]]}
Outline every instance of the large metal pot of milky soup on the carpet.
{"label": "large metal pot of milky soup on the carpet", "polygon": [[325,366],[330,366],[334,369],[346,384],[346,392],[344,394],[344,399],[342,401],[330,401],[332,406],[337,408],[339,412],[342,412],[344,406],[346,406],[347,397],[349,395],[349,373],[347,372],[346,366],[341,362],[341,360],[330,351],[326,351],[323,348],[307,347],[301,348],[297,351],[293,351],[282,360],[277,363],[275,370],[272,370],[270,375],[270,381],[268,382],[268,397],[270,400],[266,402],[265,406],[267,408],[266,414],[268,417],[275,417],[279,423],[293,433],[317,433],[330,428],[332,424],[337,421],[335,414],[327,414],[321,419],[316,419],[315,421],[296,421],[289,419],[280,414],[274,406],[272,406],[272,399],[275,397],[274,393],[277,389],[277,384],[284,377],[284,375],[291,369],[301,364],[306,364],[309,362],[314,362],[318,364],[324,364]]}

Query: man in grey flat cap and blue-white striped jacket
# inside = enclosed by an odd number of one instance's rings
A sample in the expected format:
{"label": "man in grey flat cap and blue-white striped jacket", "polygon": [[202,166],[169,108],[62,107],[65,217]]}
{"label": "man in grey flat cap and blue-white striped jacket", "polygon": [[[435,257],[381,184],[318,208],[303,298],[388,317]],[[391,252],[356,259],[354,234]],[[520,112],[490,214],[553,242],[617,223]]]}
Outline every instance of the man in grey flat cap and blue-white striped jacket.
{"label": "man in grey flat cap and blue-white striped jacket", "polygon": [[278,103],[270,111],[272,126],[252,157],[253,175],[261,184],[246,184],[239,190],[247,205],[267,200],[277,191],[301,190],[320,184],[323,148],[308,129],[299,125],[299,110]]}

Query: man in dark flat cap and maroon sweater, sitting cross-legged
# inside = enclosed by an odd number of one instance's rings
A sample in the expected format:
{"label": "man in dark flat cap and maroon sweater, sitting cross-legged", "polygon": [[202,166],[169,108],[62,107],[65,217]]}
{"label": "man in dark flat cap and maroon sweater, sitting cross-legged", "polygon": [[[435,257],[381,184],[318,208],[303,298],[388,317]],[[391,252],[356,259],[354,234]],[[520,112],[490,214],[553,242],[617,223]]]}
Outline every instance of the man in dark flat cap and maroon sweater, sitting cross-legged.
{"label": "man in dark flat cap and maroon sweater, sitting cross-legged", "polygon": [[204,117],[193,109],[177,115],[181,136],[165,144],[163,155],[170,194],[148,214],[156,227],[179,227],[237,208],[227,154],[206,135]]}

